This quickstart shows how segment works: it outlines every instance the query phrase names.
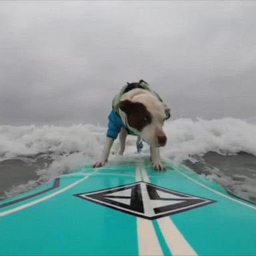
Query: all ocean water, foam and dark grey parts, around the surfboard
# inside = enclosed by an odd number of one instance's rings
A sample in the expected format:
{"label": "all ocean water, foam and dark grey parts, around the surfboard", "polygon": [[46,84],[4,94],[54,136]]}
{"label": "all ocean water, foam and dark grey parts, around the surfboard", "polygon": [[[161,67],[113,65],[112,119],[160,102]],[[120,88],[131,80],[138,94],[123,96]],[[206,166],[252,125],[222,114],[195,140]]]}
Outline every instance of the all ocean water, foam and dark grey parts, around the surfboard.
{"label": "all ocean water, foam and dark grey parts, around the surfboard", "polygon": [[[241,119],[177,119],[165,124],[161,157],[187,165],[235,195],[256,203],[256,124]],[[105,142],[106,127],[0,126],[0,199],[27,191],[77,167],[92,165]],[[127,137],[125,156],[115,141],[109,161],[136,157]],[[142,155],[149,156],[145,145]]]}

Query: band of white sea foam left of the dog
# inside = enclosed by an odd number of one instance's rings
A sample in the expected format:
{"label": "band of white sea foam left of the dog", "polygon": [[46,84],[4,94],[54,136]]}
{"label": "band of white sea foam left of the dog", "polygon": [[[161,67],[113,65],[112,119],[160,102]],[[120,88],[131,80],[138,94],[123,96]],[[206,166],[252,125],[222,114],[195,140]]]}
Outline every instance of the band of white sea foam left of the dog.
{"label": "band of white sea foam left of the dog", "polygon": [[104,140],[104,129],[94,125],[71,127],[0,126],[0,157],[38,153],[72,153],[82,151],[93,156]]}

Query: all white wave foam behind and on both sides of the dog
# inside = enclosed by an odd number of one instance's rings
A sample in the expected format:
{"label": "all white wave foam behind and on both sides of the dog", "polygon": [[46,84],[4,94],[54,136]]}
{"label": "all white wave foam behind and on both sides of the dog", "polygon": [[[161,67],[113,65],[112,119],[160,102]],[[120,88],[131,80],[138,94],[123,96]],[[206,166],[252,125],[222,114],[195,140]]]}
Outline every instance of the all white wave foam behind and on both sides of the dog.
{"label": "all white wave foam behind and on both sides of the dog", "polygon": [[[256,156],[256,124],[245,120],[177,119],[166,123],[165,132],[168,142],[161,148],[161,157],[172,165],[179,165],[186,159],[195,161],[193,155],[203,155],[208,151],[223,155],[244,151]],[[0,161],[21,155],[50,153],[53,163],[37,171],[39,182],[47,181],[79,166],[93,164],[103,147],[105,133],[105,127],[81,124],[70,127],[0,126]],[[136,158],[135,140],[135,137],[128,137],[126,157],[111,154],[109,161],[132,161]],[[117,153],[118,147],[117,140],[112,152]],[[149,155],[147,145],[142,154],[144,157]],[[31,181],[28,186],[30,188],[37,183]],[[25,189],[23,186],[15,189],[19,188],[21,191]]]}

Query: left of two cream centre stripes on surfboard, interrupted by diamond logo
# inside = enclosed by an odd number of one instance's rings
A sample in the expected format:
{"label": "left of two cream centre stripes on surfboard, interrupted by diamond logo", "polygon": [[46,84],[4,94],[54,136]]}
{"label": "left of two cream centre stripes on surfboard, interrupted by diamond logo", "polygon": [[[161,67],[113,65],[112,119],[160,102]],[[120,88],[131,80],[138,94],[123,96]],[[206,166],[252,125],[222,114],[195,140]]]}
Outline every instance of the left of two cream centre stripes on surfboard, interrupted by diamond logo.
{"label": "left of two cream centre stripes on surfboard, interrupted by diamond logo", "polygon": [[[139,167],[136,168],[136,181],[141,181]],[[160,243],[155,233],[152,221],[137,217],[137,233],[139,243],[139,255],[163,255]]]}

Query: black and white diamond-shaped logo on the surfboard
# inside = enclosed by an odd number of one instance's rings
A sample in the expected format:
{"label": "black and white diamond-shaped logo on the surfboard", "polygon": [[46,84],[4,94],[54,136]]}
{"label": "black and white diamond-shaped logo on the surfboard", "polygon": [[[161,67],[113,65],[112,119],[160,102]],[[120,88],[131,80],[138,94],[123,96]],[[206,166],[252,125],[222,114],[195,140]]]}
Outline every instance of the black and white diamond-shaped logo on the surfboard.
{"label": "black and white diamond-shaped logo on the surfboard", "polygon": [[75,196],[145,219],[157,219],[215,203],[144,181]]}

